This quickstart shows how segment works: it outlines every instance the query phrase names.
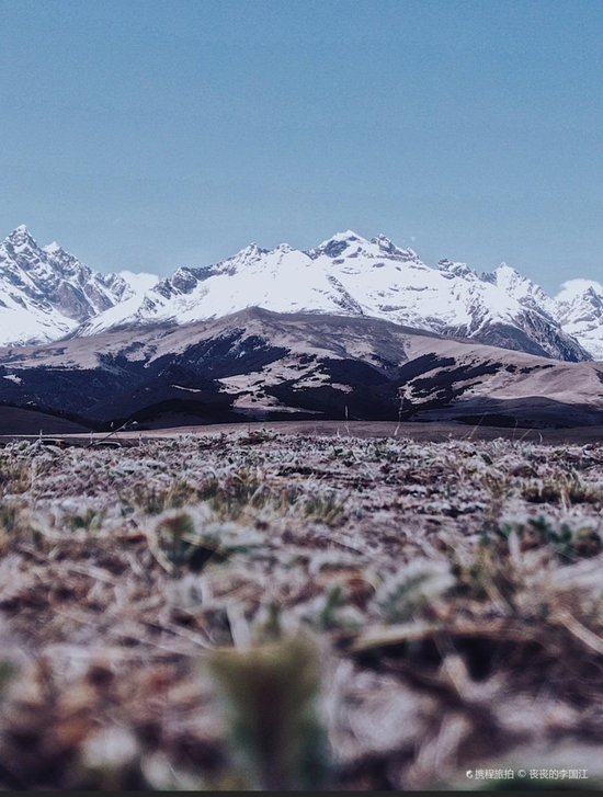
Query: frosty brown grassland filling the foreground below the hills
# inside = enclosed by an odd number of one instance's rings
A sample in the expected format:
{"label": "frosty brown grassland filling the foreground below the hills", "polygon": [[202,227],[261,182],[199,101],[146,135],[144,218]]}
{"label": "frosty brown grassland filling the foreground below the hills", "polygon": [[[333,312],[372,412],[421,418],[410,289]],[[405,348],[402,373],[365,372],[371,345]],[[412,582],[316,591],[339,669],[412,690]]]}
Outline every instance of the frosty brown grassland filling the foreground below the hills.
{"label": "frosty brown grassland filling the foreground below the hills", "polygon": [[272,432],[0,449],[0,785],[602,774],[602,464]]}

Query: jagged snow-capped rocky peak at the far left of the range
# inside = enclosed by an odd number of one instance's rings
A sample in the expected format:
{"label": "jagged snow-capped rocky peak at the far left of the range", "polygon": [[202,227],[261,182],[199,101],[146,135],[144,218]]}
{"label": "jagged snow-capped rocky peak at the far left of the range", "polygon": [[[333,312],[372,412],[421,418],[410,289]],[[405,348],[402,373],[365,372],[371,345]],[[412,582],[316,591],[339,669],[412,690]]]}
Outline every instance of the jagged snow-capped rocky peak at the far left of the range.
{"label": "jagged snow-capped rocky peak at the far left of the range", "polygon": [[38,247],[18,227],[0,243],[0,344],[58,340],[155,282],[99,274],[58,243]]}

